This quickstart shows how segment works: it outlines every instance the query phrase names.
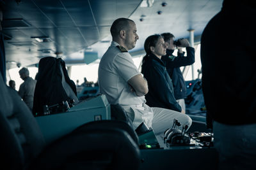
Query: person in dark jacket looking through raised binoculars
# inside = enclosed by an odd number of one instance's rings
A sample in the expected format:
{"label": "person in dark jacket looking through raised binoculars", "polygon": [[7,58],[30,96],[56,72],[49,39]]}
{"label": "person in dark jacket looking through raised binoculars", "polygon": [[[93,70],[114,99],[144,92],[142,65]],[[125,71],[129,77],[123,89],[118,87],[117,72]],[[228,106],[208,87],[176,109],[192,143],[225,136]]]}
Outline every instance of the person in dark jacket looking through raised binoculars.
{"label": "person in dark jacket looking through raised binoculars", "polygon": [[[170,32],[163,33],[161,36],[163,36],[167,48],[166,55],[162,56],[161,60],[166,64],[166,70],[172,79],[174,97],[182,110],[186,111],[184,99],[187,96],[187,89],[180,67],[189,66],[195,62],[195,48],[189,46],[188,39],[179,39],[179,46],[173,45],[174,36]],[[178,48],[177,57],[172,54],[175,47]],[[182,47],[186,47],[187,56],[184,55],[185,52],[182,51]]]}

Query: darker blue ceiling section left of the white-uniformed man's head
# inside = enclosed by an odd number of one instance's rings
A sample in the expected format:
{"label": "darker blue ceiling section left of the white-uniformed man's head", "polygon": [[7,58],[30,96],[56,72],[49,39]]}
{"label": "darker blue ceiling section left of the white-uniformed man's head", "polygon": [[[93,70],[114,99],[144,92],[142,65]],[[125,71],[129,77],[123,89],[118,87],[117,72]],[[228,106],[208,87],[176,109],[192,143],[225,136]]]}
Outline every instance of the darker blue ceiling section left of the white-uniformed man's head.
{"label": "darker blue ceiling section left of the white-uniformed man's head", "polygon": [[[44,56],[44,49],[62,53],[68,58],[71,53],[88,48],[109,35],[113,20],[129,17],[141,0],[28,0],[17,4],[5,0],[2,4],[4,22],[10,19],[22,19],[28,27],[4,27],[3,32],[12,39],[5,41],[6,60],[16,59],[22,66],[38,62],[38,56]],[[120,10],[120,5],[127,7]],[[123,6],[124,7],[124,6]],[[122,15],[122,16],[121,16]],[[31,37],[46,36],[51,43],[38,43]],[[33,43],[33,46],[14,46],[11,43]],[[39,51],[38,51],[39,50]],[[19,51],[19,52],[17,52]],[[22,52],[22,53],[20,53]],[[28,56],[35,59],[22,59]]]}

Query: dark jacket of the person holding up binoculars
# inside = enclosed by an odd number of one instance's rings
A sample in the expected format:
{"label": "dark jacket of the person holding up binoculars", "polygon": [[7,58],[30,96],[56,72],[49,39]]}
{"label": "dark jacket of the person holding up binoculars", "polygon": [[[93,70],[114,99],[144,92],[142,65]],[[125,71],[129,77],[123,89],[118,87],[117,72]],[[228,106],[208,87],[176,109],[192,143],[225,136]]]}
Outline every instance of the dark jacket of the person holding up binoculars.
{"label": "dark jacket of the person holding up binoculars", "polygon": [[185,99],[186,94],[186,84],[183,75],[180,71],[180,67],[189,66],[195,62],[195,48],[186,47],[187,57],[183,53],[178,53],[178,57],[172,55],[173,50],[166,50],[166,55],[162,56],[164,64],[166,64],[166,70],[172,79],[174,96],[175,99]]}

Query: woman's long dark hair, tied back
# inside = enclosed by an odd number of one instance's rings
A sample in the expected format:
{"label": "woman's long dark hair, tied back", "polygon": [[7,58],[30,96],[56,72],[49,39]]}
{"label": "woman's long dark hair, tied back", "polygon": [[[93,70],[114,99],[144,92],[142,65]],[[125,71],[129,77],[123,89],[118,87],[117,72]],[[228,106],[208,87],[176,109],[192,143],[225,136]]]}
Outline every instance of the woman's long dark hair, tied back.
{"label": "woman's long dark hair, tied back", "polygon": [[156,46],[156,43],[159,38],[163,38],[163,37],[160,34],[154,34],[152,36],[148,36],[148,38],[145,40],[144,50],[146,52],[146,55],[143,57],[143,60],[142,60],[141,73],[144,73],[144,64],[148,59],[148,56],[150,55],[150,53],[152,53],[150,50],[150,46]]}

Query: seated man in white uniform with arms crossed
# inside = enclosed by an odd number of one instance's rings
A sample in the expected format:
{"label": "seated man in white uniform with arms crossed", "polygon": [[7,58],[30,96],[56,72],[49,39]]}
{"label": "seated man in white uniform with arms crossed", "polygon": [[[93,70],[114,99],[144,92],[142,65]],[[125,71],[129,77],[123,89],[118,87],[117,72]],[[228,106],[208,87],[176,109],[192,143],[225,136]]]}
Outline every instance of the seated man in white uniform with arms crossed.
{"label": "seated man in white uniform with arms crossed", "polygon": [[[152,127],[157,141],[164,146],[163,135],[172,127],[173,118],[180,124],[191,126],[192,120],[183,113],[164,108],[150,108],[145,104],[148,92],[147,80],[134,65],[131,50],[139,39],[136,24],[128,18],[118,18],[111,25],[113,41],[99,64],[100,93],[110,104],[120,104],[136,129],[141,122]],[[161,88],[161,87],[159,87]]]}

